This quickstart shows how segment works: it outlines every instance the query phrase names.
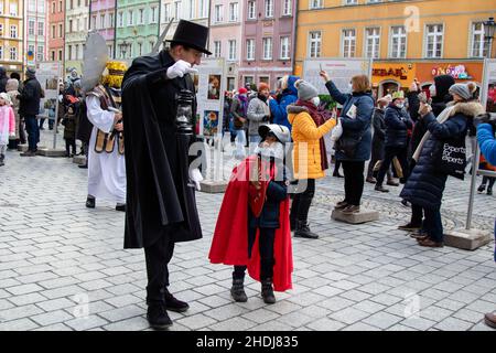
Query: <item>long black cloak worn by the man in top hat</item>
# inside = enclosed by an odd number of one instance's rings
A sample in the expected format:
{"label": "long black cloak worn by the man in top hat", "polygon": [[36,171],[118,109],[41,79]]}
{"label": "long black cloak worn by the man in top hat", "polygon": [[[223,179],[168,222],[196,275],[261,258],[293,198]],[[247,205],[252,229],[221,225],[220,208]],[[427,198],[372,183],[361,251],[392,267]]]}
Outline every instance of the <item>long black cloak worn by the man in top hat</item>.
{"label": "long black cloak worn by the man in top hat", "polygon": [[[173,242],[202,237],[195,189],[185,167],[187,146],[181,146],[175,133],[175,95],[195,88],[190,75],[166,78],[173,64],[169,52],[162,51],[136,58],[123,77],[125,248],[148,247],[161,236]],[[196,116],[196,100],[193,113]],[[195,140],[193,136],[190,143]]]}

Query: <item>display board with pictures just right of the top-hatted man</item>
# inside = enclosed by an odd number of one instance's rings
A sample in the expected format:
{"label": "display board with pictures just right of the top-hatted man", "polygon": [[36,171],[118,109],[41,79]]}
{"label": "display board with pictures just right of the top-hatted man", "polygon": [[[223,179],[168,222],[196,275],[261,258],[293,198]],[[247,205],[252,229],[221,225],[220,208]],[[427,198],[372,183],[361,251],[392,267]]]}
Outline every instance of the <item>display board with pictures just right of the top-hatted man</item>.
{"label": "display board with pictures just right of the top-hatted man", "polygon": [[198,135],[214,138],[222,135],[224,121],[225,61],[224,58],[203,60],[196,66],[194,75],[196,98],[198,103],[196,121],[200,122]]}

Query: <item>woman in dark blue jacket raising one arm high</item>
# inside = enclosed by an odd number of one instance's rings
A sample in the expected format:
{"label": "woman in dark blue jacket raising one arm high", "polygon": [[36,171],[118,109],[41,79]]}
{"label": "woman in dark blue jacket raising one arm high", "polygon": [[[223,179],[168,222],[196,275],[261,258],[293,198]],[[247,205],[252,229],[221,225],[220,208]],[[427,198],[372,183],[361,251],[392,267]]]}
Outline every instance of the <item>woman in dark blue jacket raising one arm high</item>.
{"label": "woman in dark blue jacket raising one arm high", "polygon": [[358,213],[364,192],[365,161],[370,159],[371,150],[370,126],[375,103],[370,94],[370,82],[366,75],[354,76],[352,94],[343,94],[331,81],[327,72],[321,71],[320,75],[325,79],[331,97],[343,106],[339,116],[343,135],[339,140],[357,141],[353,156],[336,149],[336,160],[343,162],[345,174],[345,200],[338,202],[335,208],[342,210],[345,214]]}

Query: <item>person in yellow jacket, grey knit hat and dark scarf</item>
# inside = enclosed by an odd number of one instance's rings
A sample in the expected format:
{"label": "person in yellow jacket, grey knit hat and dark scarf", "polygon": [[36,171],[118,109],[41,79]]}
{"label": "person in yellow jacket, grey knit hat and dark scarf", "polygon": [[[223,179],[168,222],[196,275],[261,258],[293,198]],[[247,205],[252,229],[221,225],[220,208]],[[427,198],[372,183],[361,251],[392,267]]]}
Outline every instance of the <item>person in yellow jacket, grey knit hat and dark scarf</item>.
{"label": "person in yellow jacket, grey knit hat and dark scarf", "polygon": [[310,83],[294,83],[298,100],[288,106],[288,120],[292,125],[293,175],[298,180],[296,193],[291,205],[290,222],[295,237],[316,239],[310,231],[308,216],[315,194],[315,179],[325,176],[328,169],[324,136],[337,124],[336,117],[326,120],[326,111],[320,107],[319,90]]}

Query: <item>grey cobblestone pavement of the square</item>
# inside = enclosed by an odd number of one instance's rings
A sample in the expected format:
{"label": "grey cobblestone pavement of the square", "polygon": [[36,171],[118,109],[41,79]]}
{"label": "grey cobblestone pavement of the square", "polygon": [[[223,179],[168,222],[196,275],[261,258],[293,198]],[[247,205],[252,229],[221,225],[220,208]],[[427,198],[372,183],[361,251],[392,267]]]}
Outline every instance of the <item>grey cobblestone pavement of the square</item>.
{"label": "grey cobblestone pavement of the square", "polygon": [[[50,139],[44,133],[45,139]],[[0,331],[149,330],[142,250],[122,249],[123,214],[84,205],[86,170],[68,159],[7,153],[0,169]],[[187,300],[172,330],[490,330],[496,309],[493,244],[475,252],[425,249],[397,231],[409,210],[366,185],[378,222],[330,220],[342,180],[317,185],[310,221],[321,237],[293,239],[294,289],[267,306],[249,280],[247,303],[229,297],[231,269],[207,254],[223,195],[200,193],[204,238],[179,244],[171,291]],[[468,182],[450,181],[443,215],[464,224]],[[477,195],[474,223],[492,228],[496,200]],[[87,303],[87,304],[86,304]]]}

